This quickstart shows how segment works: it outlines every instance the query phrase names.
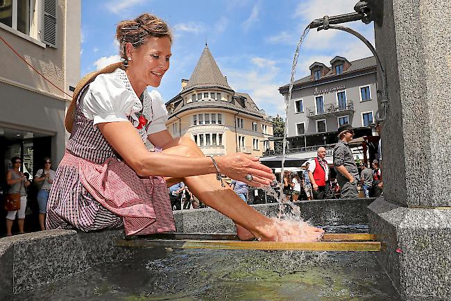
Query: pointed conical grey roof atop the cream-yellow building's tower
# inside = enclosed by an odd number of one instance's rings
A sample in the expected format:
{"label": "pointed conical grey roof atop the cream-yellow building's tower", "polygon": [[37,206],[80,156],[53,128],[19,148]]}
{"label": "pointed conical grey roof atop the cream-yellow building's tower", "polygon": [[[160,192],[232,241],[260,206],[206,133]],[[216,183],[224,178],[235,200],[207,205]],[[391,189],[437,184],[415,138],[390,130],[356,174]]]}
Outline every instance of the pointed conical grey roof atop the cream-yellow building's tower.
{"label": "pointed conical grey roof atop the cream-yellow building's tower", "polygon": [[199,58],[196,68],[194,68],[185,89],[202,87],[223,87],[232,89],[221,73],[221,70],[219,70],[207,44],[205,44],[205,49],[203,49],[201,58]]}

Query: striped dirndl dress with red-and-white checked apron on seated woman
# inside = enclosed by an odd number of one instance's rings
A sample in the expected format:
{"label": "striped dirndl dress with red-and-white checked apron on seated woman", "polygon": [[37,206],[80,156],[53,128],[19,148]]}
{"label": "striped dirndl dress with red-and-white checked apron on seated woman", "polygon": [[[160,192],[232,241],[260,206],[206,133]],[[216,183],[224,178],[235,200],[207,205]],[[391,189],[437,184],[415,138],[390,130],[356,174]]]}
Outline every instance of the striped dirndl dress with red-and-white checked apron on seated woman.
{"label": "striped dirndl dress with red-and-white checked apron on seated woman", "polygon": [[[47,229],[84,232],[124,227],[126,235],[176,230],[167,184],[139,177],[80,111],[47,204]],[[143,135],[142,135],[143,136]]]}

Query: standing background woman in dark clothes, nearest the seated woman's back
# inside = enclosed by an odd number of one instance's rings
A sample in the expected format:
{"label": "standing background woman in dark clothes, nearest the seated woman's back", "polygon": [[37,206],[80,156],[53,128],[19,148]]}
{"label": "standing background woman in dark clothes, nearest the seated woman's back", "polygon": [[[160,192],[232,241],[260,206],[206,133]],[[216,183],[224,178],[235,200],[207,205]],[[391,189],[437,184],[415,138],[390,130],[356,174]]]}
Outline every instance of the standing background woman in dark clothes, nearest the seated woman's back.
{"label": "standing background woman in dark clothes, nearest the seated woman's back", "polygon": [[44,168],[39,169],[35,175],[35,183],[39,188],[37,192],[37,205],[39,205],[39,225],[41,230],[45,230],[45,214],[47,211],[47,200],[49,200],[49,194],[51,184],[55,178],[55,171],[50,169],[51,160],[49,157],[44,158]]}

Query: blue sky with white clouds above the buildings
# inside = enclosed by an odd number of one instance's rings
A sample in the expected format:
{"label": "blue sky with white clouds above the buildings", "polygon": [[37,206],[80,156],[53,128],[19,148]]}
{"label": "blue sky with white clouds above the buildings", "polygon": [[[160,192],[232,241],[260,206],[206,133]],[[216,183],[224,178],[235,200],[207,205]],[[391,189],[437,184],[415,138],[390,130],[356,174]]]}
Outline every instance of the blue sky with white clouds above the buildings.
{"label": "blue sky with white clouds above the buildings", "polygon": [[[296,44],[305,27],[324,15],[353,12],[357,0],[82,0],[80,76],[119,61],[117,23],[149,12],[173,31],[171,67],[156,88],[164,101],[181,90],[208,44],[235,92],[248,93],[266,114],[284,116],[278,88],[291,78]],[[374,45],[373,24],[350,22]],[[309,31],[298,57],[296,79],[313,62],[330,65],[336,55],[349,61],[371,56],[349,33]],[[149,89],[153,89],[149,87]]]}

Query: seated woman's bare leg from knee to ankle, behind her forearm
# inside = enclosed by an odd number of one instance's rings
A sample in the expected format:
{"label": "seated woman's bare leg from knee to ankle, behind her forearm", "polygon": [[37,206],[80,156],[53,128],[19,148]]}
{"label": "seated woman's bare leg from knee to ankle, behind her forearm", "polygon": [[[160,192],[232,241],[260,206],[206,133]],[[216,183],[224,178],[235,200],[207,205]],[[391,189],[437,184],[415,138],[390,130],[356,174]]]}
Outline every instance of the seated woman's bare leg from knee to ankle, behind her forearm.
{"label": "seated woman's bare leg from knee to ankle, behind her forearm", "polygon": [[[202,150],[188,138],[175,138],[164,146],[163,153],[181,155],[185,157],[203,157]],[[202,203],[225,214],[237,225],[237,234],[240,239],[253,239],[253,234],[262,236],[259,231],[266,230],[265,227],[271,224],[271,219],[260,214],[237,196],[226,184],[221,186],[221,182],[216,180],[215,174],[196,175],[186,178],[166,178],[168,186],[183,181],[188,185],[189,190],[197,196]]]}

